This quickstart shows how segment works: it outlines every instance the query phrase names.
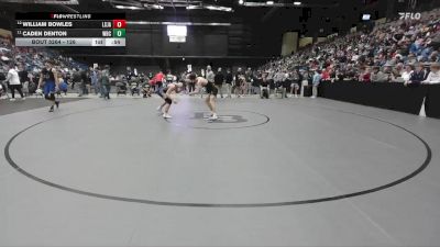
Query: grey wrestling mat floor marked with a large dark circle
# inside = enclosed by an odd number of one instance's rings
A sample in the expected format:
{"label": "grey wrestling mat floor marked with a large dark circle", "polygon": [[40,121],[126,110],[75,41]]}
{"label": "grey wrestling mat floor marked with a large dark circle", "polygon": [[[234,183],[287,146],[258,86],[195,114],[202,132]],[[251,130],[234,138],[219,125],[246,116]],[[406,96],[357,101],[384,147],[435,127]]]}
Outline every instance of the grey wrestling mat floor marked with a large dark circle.
{"label": "grey wrestling mat floor marked with a large dark circle", "polygon": [[308,98],[219,99],[213,123],[199,97],[168,121],[158,98],[20,103],[0,101],[1,246],[440,243],[440,120]]}

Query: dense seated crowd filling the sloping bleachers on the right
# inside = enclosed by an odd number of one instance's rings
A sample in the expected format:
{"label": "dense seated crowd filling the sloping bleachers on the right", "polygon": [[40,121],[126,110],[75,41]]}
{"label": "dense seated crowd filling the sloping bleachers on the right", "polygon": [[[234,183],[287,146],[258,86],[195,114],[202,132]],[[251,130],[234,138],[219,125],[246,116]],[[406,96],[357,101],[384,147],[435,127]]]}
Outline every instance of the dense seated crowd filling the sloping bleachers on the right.
{"label": "dense seated crowd filling the sloping bleachers on the right", "polygon": [[[405,65],[438,63],[440,9],[422,13],[420,20],[398,20],[377,25],[370,33],[354,33],[311,45],[288,57],[262,66],[266,71],[292,70],[304,66],[311,70],[334,68],[337,80],[364,80],[362,68],[376,67],[372,81],[403,82]],[[383,68],[385,66],[385,68]],[[381,71],[382,70],[382,71]],[[331,74],[331,72],[330,72]],[[389,79],[388,79],[389,77]]]}

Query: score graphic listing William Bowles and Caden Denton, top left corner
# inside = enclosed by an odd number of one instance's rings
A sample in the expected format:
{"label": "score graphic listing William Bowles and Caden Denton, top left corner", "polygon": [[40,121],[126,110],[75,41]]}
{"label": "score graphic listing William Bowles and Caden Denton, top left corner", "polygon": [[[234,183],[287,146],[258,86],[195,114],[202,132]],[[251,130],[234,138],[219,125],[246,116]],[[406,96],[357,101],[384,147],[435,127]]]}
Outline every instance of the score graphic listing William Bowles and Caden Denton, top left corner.
{"label": "score graphic listing William Bowles and Caden Denton, top left corner", "polygon": [[15,46],[125,46],[125,13],[16,13]]}

